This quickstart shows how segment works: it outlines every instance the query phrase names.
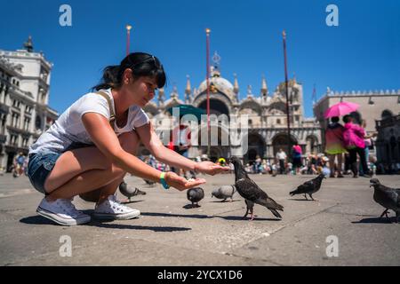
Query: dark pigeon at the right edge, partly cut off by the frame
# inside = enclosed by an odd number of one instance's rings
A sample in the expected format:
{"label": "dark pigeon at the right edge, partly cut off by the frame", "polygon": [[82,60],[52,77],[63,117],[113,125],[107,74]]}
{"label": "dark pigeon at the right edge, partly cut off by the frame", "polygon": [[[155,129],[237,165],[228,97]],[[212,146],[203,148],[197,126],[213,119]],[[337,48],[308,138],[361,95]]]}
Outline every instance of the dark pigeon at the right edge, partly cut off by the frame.
{"label": "dark pigeon at the right edge, partly cut off by the frame", "polygon": [[400,220],[400,188],[390,188],[380,184],[378,178],[370,179],[370,187],[373,186],[373,200],[382,205],[385,210],[380,215],[388,217],[388,209],[396,212],[396,223]]}

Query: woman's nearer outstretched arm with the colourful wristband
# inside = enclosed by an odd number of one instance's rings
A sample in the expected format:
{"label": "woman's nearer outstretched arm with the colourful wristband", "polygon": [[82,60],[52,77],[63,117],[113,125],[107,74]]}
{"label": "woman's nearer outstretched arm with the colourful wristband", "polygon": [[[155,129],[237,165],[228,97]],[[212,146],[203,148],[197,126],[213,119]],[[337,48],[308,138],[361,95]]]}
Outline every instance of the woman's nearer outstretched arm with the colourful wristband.
{"label": "woman's nearer outstretched arm with the colourful wristband", "polygon": [[[148,164],[142,162],[139,158],[124,151],[106,117],[101,114],[87,113],[83,115],[82,121],[93,143],[109,161],[134,176],[160,182],[161,171],[148,166]],[[204,184],[205,182],[204,179],[196,180],[196,182],[188,182],[185,178],[178,177],[172,172],[168,172],[164,178],[168,185],[179,190],[188,189]]]}

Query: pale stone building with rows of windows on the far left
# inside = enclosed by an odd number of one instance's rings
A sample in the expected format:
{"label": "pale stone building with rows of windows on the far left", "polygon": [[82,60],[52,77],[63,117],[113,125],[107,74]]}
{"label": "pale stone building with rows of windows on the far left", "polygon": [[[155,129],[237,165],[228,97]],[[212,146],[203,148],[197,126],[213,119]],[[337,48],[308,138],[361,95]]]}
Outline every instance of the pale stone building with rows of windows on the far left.
{"label": "pale stone building with rows of windows on the far left", "polygon": [[34,52],[32,39],[24,50],[0,50],[0,167],[11,170],[16,154],[52,125],[58,114],[48,106],[52,63]]}

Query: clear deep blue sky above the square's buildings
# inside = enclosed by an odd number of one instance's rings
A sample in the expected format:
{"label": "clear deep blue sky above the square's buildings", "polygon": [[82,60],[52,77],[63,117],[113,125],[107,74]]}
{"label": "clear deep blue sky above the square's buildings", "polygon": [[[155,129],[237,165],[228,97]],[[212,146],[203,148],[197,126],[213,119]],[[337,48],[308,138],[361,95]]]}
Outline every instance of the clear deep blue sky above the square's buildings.
{"label": "clear deep blue sky above the square's buildings", "polygon": [[[61,4],[72,7],[72,27],[60,27]],[[339,27],[325,24],[328,4],[339,7]],[[167,97],[180,97],[205,78],[205,33],[221,57],[222,76],[241,97],[247,85],[260,92],[261,76],[274,91],[284,81],[282,30],[288,69],[303,83],[305,110],[326,86],[335,91],[400,89],[400,1],[5,1],[1,0],[0,49],[22,47],[28,35],[52,69],[50,105],[60,113],[100,80],[101,69],[125,55],[125,25],[132,24],[132,51],[148,51],[164,64]]]}

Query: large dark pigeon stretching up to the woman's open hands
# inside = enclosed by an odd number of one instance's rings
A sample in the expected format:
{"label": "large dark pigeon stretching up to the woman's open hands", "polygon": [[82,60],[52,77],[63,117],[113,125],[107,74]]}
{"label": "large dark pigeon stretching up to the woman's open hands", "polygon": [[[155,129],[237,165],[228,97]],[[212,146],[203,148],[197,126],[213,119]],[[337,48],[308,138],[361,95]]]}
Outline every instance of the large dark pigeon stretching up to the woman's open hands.
{"label": "large dark pigeon stretching up to the woman's open hands", "polygon": [[249,210],[251,214],[250,220],[254,218],[254,203],[265,206],[275,217],[282,218],[277,210],[284,211],[284,207],[276,203],[276,201],[268,197],[267,193],[260,189],[259,185],[247,175],[240,160],[237,157],[231,157],[228,159],[228,162],[231,162],[235,166],[235,187],[237,192],[244,198],[247,206],[244,218],[249,214]]}

